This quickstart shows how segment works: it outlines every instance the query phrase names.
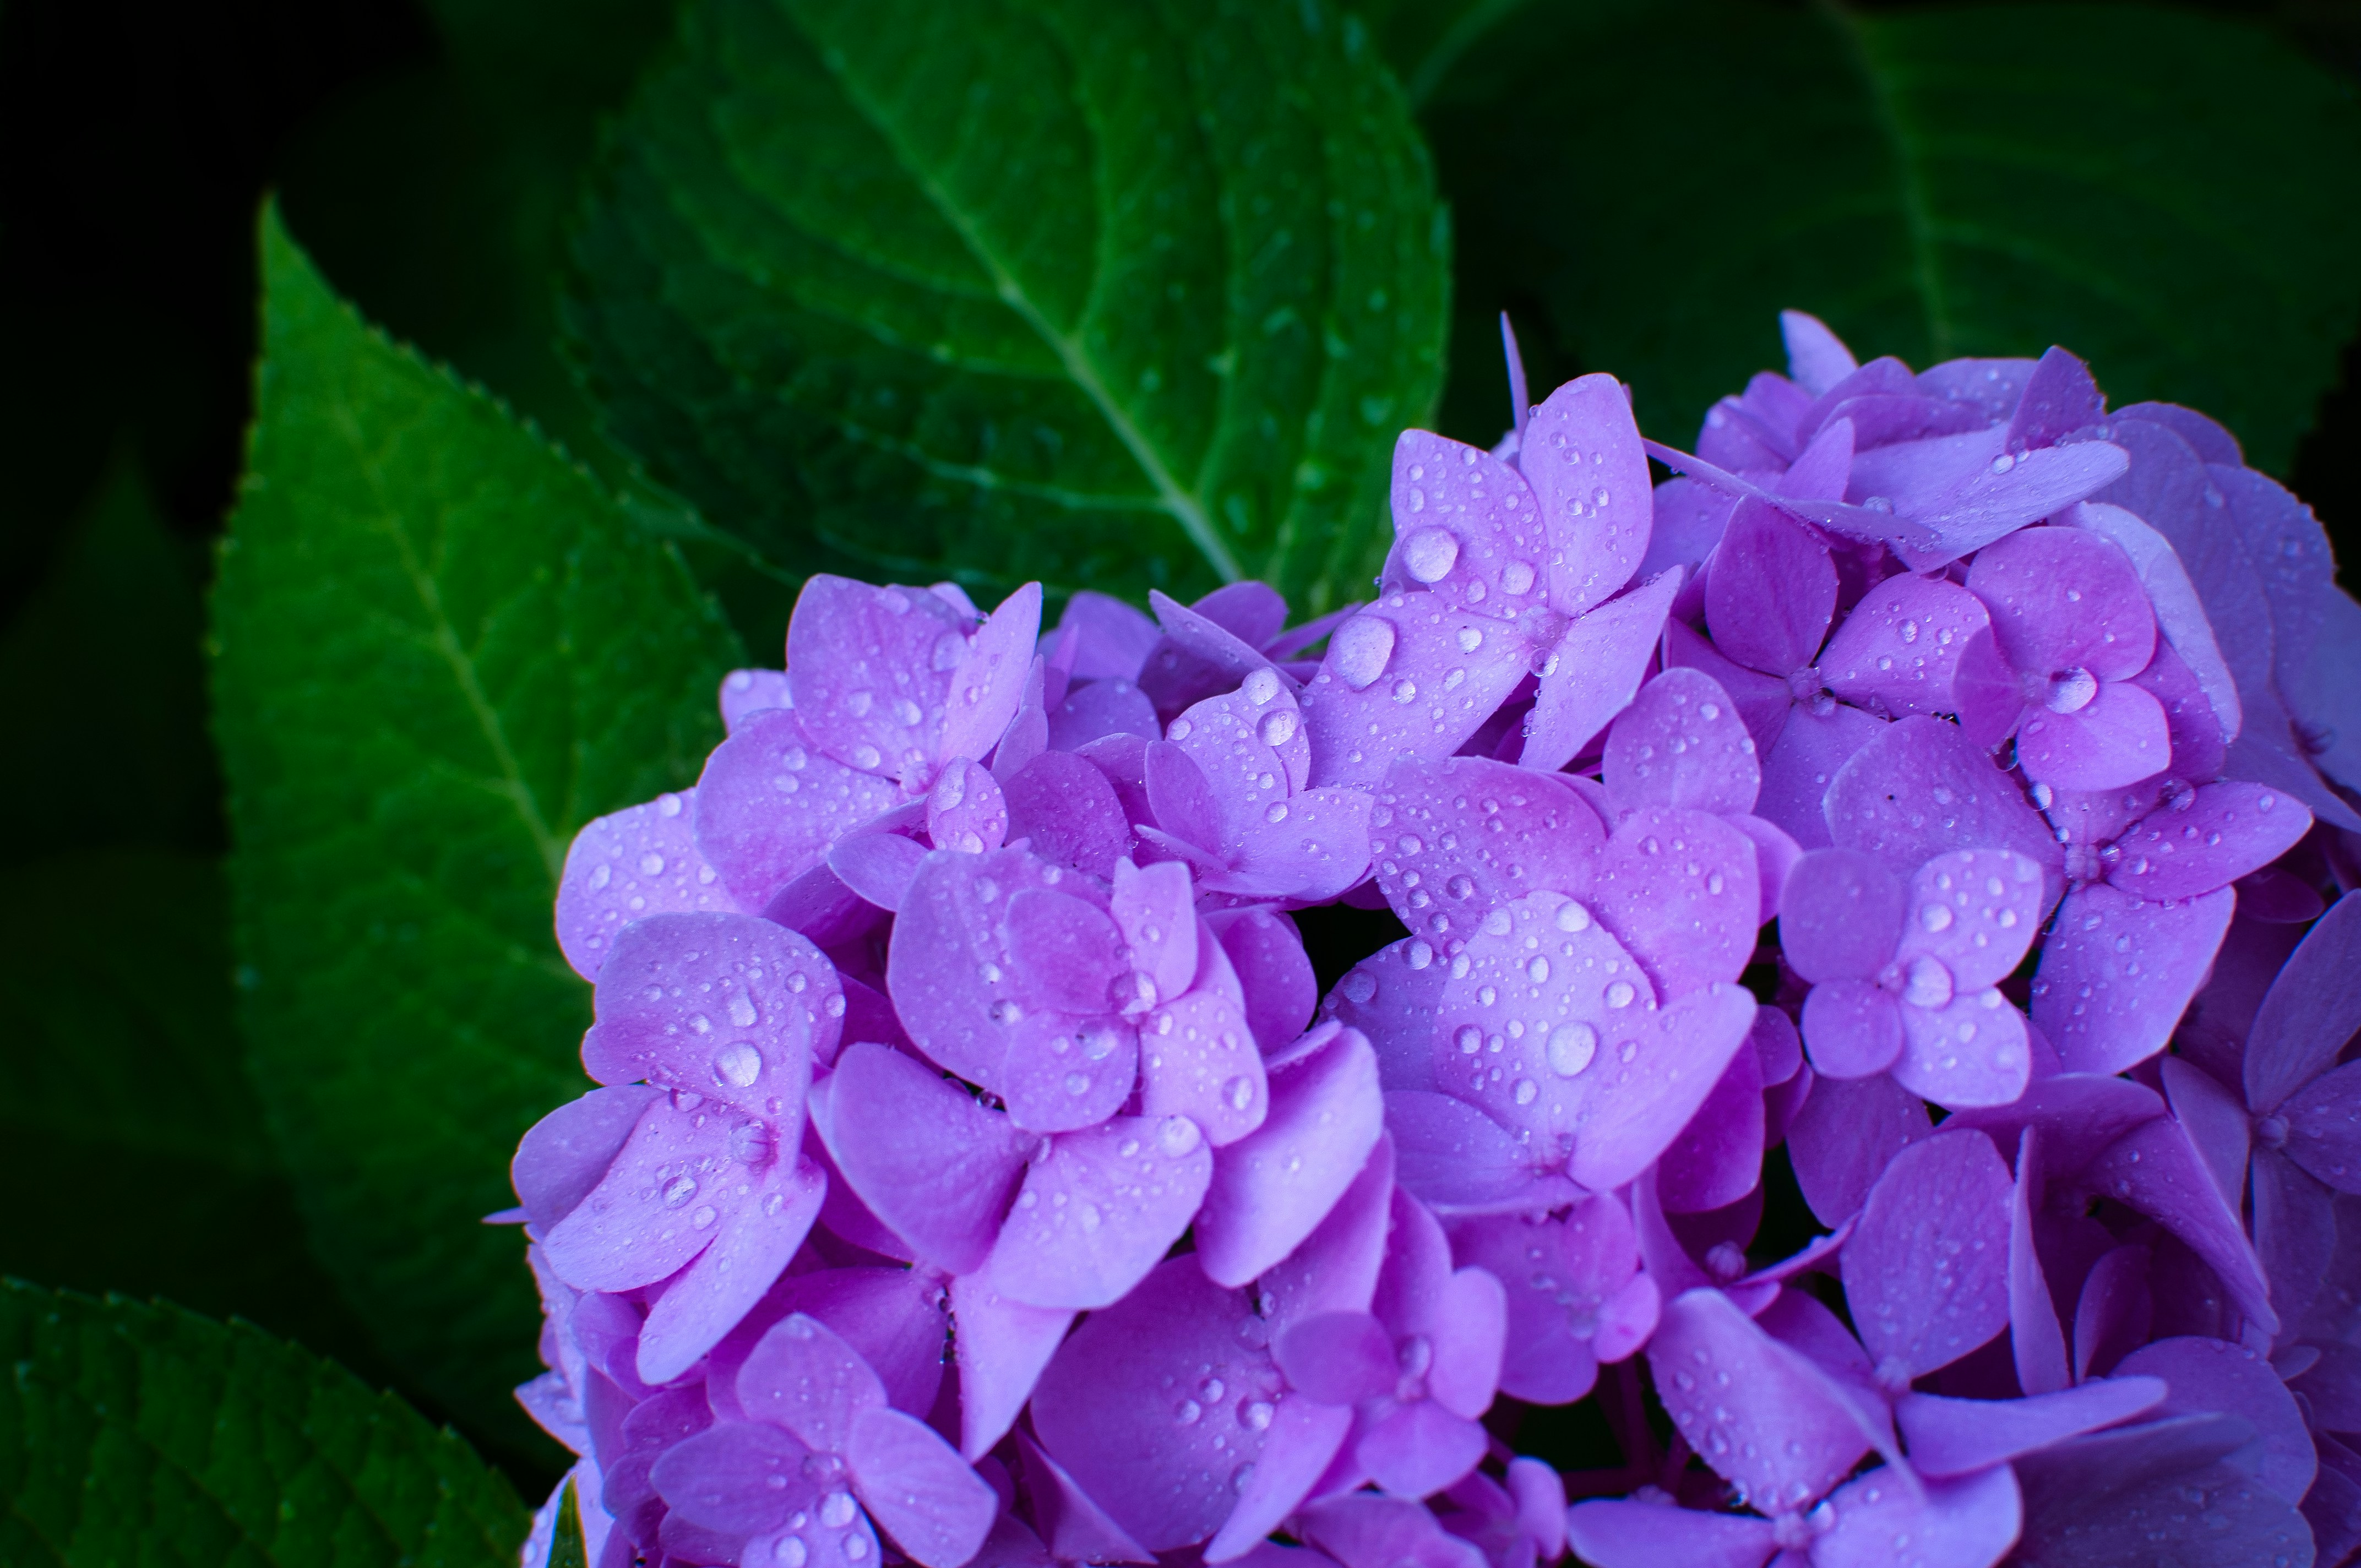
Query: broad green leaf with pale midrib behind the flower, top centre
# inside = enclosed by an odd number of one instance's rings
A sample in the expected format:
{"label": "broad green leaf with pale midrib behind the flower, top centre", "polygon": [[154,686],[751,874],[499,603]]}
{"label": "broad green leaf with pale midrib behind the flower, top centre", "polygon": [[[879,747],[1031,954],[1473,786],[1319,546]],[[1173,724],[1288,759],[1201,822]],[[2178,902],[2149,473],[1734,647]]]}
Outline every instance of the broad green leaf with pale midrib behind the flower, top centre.
{"label": "broad green leaf with pale midrib behind the flower, top centre", "polygon": [[569,321],[611,435],[772,569],[1320,609],[1384,555],[1447,248],[1322,0],[706,0]]}

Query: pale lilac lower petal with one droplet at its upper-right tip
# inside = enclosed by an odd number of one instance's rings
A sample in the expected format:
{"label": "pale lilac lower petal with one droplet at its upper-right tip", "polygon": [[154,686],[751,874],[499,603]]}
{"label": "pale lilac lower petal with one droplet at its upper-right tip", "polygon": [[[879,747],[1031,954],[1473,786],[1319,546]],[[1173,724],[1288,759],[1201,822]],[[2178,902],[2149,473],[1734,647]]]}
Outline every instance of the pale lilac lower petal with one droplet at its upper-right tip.
{"label": "pale lilac lower petal with one droplet at its upper-right tip", "polygon": [[1214,1176],[1188,1117],[1117,1117],[1051,1138],[992,1247],[1001,1292],[1088,1311],[1119,1301],[1180,1240]]}

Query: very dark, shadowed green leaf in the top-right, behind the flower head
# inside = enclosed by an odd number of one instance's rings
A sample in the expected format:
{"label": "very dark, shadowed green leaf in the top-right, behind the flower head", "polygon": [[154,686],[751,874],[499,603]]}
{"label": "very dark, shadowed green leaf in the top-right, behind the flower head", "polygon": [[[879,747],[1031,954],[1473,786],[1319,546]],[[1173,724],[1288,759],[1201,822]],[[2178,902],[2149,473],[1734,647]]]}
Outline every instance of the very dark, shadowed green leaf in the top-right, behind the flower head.
{"label": "very dark, shadowed green leaf in the top-right, behind the flower head", "polygon": [[[2061,342],[2285,470],[2361,319],[2354,97],[2182,9],[1613,0],[1513,12],[1424,118],[1471,314],[1539,300],[1554,368],[1629,378],[1667,439],[1783,364],[1792,305],[1863,359]],[[1454,373],[1497,435],[1495,349]]]}

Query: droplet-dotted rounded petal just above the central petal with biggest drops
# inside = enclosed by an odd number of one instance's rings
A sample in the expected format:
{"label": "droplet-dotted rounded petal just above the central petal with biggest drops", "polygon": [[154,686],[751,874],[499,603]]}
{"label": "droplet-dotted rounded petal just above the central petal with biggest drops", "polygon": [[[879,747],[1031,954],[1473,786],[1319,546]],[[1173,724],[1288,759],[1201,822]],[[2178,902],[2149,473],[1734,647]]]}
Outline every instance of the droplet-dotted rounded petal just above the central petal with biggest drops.
{"label": "droplet-dotted rounded petal just above the central petal with biggest drops", "polygon": [[[1480,812],[1480,834],[1459,831],[1459,801]],[[1570,789],[1487,758],[1395,763],[1369,827],[1376,886],[1412,928],[1426,928],[1438,909],[1469,919],[1539,888],[1587,897],[1605,841],[1598,815]]]}

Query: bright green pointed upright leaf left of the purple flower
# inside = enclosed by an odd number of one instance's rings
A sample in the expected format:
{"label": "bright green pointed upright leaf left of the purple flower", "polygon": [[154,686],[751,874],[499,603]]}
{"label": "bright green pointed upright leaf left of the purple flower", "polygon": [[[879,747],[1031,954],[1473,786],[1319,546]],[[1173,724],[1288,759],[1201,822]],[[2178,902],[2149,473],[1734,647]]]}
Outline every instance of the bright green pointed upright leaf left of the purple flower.
{"label": "bright green pointed upright leaf left of the purple flower", "polygon": [[243,1023],[312,1240],[486,1436],[538,1313],[517,1136],[586,1084],[550,909],[588,817],[694,782],[741,654],[680,560],[262,224],[246,489],[212,600]]}

